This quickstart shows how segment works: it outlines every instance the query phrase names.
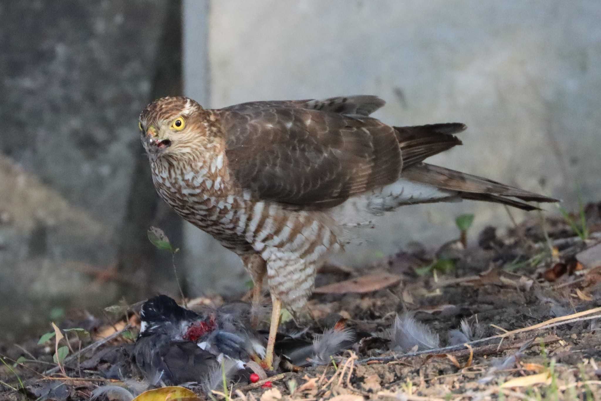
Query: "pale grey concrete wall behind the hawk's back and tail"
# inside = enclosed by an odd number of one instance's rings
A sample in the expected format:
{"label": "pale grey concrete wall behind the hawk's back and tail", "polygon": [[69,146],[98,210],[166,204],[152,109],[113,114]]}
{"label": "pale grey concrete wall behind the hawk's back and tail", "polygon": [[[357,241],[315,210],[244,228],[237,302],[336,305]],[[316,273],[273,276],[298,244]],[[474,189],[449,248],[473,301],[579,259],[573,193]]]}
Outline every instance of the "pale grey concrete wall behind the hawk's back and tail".
{"label": "pale grey concrete wall behind the hawk's back and tail", "polygon": [[[389,123],[468,124],[465,145],[431,162],[570,207],[578,188],[601,195],[600,20],[598,0],[214,1],[208,105],[376,94]],[[353,260],[449,239],[463,212],[474,233],[509,224],[490,204],[404,207]],[[227,263],[212,269],[235,271]]]}

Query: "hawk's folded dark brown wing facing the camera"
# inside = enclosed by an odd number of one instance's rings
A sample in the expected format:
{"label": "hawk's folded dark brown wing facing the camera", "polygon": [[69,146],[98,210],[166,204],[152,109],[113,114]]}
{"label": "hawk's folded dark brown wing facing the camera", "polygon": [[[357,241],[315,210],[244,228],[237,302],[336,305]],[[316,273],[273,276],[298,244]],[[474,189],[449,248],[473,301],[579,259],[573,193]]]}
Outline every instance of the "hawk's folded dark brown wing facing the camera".
{"label": "hawk's folded dark brown wing facing the camera", "polygon": [[[397,180],[402,162],[395,130],[365,116],[380,105],[377,98],[334,99],[253,102],[216,111],[237,182],[261,199],[331,207]],[[339,109],[353,115],[334,111]]]}

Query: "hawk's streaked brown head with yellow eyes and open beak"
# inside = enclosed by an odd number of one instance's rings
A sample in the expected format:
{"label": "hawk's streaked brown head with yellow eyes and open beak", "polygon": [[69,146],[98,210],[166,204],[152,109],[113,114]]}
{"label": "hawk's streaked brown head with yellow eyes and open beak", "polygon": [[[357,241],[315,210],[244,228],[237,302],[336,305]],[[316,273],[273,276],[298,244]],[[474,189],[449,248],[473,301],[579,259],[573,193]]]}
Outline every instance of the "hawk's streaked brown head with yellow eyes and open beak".
{"label": "hawk's streaked brown head with yellow eyes and open beak", "polygon": [[188,97],[162,97],[140,114],[142,145],[149,156],[177,155],[191,150],[204,129],[203,108]]}

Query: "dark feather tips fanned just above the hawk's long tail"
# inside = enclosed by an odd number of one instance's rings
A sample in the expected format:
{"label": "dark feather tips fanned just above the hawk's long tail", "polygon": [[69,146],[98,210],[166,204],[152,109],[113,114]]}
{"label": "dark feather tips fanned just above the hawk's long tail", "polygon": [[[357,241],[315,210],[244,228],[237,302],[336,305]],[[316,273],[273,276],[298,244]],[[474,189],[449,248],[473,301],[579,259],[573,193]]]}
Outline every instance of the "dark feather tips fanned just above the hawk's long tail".
{"label": "dark feather tips fanned just above the hawk's long tail", "polygon": [[466,126],[462,123],[444,123],[394,129],[405,169],[455,145],[461,145],[460,139],[452,134],[465,130]]}

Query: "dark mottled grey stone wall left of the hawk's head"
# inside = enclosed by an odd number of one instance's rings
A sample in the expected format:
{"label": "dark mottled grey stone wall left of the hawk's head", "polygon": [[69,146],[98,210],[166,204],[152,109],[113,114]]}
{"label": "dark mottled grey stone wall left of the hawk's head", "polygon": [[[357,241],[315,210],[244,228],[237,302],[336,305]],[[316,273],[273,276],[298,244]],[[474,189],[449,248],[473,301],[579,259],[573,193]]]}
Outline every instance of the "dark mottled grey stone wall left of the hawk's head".
{"label": "dark mottled grey stone wall left of the hawk's head", "polygon": [[[0,2],[0,335],[160,277],[145,248],[160,207],[139,168],[137,118],[151,96],[181,91],[180,37],[160,52],[172,26],[179,2]],[[161,76],[170,60],[175,73]],[[146,259],[126,260],[132,249]]]}

